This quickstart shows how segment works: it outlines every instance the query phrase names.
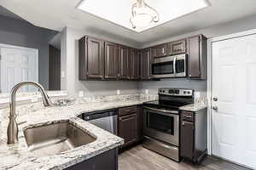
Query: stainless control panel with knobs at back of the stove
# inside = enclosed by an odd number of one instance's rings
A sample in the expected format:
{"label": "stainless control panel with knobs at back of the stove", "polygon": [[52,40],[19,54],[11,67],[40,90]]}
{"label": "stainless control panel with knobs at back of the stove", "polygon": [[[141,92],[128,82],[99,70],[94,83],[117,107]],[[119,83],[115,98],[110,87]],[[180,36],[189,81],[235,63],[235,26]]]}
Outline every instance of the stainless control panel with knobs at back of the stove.
{"label": "stainless control panel with knobs at back of the stove", "polygon": [[193,96],[193,89],[184,88],[160,88],[158,94],[172,95],[172,96]]}

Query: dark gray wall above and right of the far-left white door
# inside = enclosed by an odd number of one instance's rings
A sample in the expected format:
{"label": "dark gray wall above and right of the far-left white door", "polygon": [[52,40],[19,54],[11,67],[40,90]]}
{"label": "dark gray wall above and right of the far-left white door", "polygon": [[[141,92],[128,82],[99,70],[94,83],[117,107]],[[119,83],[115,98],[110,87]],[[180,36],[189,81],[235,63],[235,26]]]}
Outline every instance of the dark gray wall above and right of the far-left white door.
{"label": "dark gray wall above and right of the far-left white door", "polygon": [[50,31],[24,20],[15,20],[0,15],[0,43],[26,48],[38,48],[39,82],[44,88],[49,87],[49,40],[56,31]]}

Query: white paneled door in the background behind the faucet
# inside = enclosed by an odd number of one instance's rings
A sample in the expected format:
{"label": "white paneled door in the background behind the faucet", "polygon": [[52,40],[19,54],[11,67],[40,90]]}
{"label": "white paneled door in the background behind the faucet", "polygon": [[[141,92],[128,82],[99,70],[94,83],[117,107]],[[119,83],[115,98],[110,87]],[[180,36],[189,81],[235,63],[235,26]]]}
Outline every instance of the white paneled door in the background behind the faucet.
{"label": "white paneled door in the background behind the faucet", "polygon": [[[38,82],[38,50],[0,44],[1,53],[1,91],[9,93],[18,82]],[[21,92],[35,91],[24,87]]]}

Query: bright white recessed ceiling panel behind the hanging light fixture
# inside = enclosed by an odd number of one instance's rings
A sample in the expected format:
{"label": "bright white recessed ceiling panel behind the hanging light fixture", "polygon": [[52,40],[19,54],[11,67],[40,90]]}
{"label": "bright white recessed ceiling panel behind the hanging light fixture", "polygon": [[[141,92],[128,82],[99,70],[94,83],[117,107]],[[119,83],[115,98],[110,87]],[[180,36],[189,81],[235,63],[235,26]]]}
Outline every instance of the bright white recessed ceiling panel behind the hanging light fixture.
{"label": "bright white recessed ceiling panel behind the hanging light fixture", "polygon": [[83,0],[79,3],[78,8],[131,31],[142,32],[155,26],[160,26],[167,21],[177,19],[185,14],[206,8],[209,5],[206,0],[148,0],[146,3],[157,11],[160,20],[158,22],[151,22],[148,26],[132,28],[130,22],[131,7],[135,3],[137,3],[137,0]]}

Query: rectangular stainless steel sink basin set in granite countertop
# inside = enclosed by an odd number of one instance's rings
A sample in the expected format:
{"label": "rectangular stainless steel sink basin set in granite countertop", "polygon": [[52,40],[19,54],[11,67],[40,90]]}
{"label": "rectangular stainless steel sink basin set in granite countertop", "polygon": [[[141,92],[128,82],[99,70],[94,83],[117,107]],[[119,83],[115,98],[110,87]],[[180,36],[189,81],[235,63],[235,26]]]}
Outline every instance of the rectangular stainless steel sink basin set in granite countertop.
{"label": "rectangular stainless steel sink basin set in granite countertop", "polygon": [[26,128],[24,135],[29,150],[36,156],[55,155],[96,140],[70,122]]}

